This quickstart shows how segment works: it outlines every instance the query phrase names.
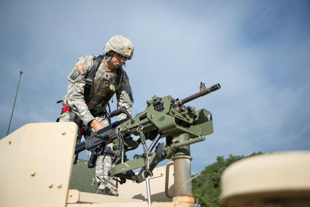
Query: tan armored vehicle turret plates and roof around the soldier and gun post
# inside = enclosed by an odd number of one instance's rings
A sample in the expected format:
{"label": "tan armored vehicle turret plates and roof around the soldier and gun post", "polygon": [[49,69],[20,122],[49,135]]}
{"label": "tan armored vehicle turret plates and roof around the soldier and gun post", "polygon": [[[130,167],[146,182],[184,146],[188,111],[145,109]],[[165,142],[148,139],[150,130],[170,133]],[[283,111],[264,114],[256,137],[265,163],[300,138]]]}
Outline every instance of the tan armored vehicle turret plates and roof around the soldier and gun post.
{"label": "tan armored vehicle turret plates and roof around the soldier and gun post", "polygon": [[[69,189],[77,130],[73,122],[33,123],[1,139],[0,206],[149,206],[145,182],[128,180],[119,197]],[[153,170],[152,206],[194,204],[192,196],[175,196],[173,183],[173,166]]]}

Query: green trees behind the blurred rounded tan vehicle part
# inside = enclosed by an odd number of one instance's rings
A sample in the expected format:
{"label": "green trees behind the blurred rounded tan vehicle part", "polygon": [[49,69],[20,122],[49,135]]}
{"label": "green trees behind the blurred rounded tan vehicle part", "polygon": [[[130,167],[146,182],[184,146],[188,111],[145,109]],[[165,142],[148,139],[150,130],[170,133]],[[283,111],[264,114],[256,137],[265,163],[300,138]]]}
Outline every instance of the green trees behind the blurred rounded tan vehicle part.
{"label": "green trees behind the blurred rounded tan vehicle part", "polygon": [[[216,163],[213,163],[206,167],[201,172],[201,175],[192,180],[192,189],[194,198],[200,200],[202,207],[226,207],[228,205],[223,205],[219,202],[220,194],[220,177],[228,167],[228,165],[246,157],[254,156],[257,154],[263,154],[262,152],[253,153],[249,156],[233,156],[229,155],[227,159],[224,156],[218,156],[216,158]],[[195,175],[193,175],[195,176]],[[193,177],[192,176],[192,177]],[[196,202],[196,201],[195,201]]]}

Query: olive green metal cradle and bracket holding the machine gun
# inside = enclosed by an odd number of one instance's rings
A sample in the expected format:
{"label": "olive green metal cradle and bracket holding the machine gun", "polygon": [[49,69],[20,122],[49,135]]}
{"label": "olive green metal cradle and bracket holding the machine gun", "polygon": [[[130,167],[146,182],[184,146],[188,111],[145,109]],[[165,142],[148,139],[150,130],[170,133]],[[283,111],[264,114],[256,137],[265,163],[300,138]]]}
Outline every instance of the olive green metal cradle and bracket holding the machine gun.
{"label": "olive green metal cradle and bracket holding the machine gun", "polygon": [[[161,138],[166,137],[166,143],[171,143],[166,146],[166,154],[161,158],[156,155],[156,150],[150,154],[150,171],[164,159],[171,159],[173,156],[172,150],[177,150],[177,148],[184,145],[190,145],[205,140],[205,135],[213,133],[212,114],[208,110],[203,108],[195,111],[195,108],[192,107],[190,111],[186,110],[185,112],[179,113],[175,111],[174,108],[170,107],[171,101],[173,100],[171,96],[165,96],[161,99],[162,106],[160,110],[157,110],[156,106],[153,105],[153,101],[149,101],[148,107],[144,112],[137,114],[135,117],[119,125],[124,134],[126,134],[127,131],[131,131],[131,134],[135,136],[139,136],[139,132],[137,131],[138,125],[143,126],[143,133],[145,135],[151,131],[159,130],[163,134]],[[176,133],[187,133],[189,136],[188,140],[183,141],[183,145],[179,145],[180,143],[177,141],[172,141],[172,137]],[[150,138],[146,136],[146,139]],[[124,140],[126,140],[126,138],[124,138]],[[117,176],[119,173],[144,166],[144,158],[139,157],[138,159],[117,164],[115,167],[111,168],[109,176]],[[141,171],[143,172],[144,168],[141,169]],[[144,179],[140,177],[140,182],[143,180]]]}

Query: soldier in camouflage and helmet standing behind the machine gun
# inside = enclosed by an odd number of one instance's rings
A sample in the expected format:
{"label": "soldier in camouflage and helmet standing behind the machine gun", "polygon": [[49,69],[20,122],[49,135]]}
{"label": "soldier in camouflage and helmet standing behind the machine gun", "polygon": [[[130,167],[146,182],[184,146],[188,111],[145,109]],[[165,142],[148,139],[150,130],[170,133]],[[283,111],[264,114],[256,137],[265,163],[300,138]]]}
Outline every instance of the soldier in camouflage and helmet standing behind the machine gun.
{"label": "soldier in camouflage and helmet standing behind the machine gun", "polygon": [[[134,103],[129,79],[122,68],[133,55],[134,45],[125,36],[113,36],[104,46],[105,55],[83,56],[78,59],[67,77],[69,85],[64,96],[64,106],[59,122],[74,121],[80,130],[77,142],[82,135],[85,139],[92,132],[109,125],[106,107],[113,94],[116,93],[117,108],[125,106],[132,113]],[[99,65],[98,65],[99,63]],[[97,71],[96,71],[96,68]],[[121,114],[117,120],[125,118]],[[105,149],[112,150],[112,143]],[[98,156],[96,161],[96,181],[99,184],[97,193],[117,195],[116,180],[108,177],[108,170],[113,165],[112,156]]]}

